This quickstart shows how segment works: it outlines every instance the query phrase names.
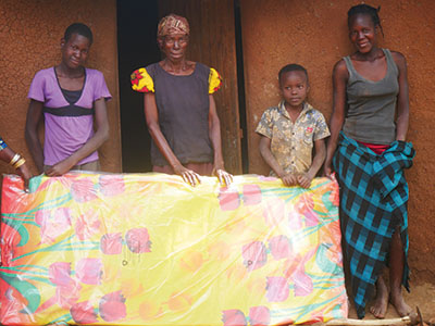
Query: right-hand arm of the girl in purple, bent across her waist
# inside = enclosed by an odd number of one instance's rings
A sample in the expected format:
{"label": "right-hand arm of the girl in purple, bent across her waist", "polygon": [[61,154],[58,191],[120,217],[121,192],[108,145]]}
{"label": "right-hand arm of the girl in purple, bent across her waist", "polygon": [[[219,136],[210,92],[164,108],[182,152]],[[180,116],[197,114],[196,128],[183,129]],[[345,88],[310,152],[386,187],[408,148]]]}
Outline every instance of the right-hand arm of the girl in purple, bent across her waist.
{"label": "right-hand arm of the girl in purple, bent across her waist", "polygon": [[50,167],[46,172],[48,176],[61,176],[67,173],[74,165],[77,165],[79,161],[82,161],[86,156],[89,156],[92,152],[98,150],[105,140],[109,139],[109,120],[108,109],[105,106],[105,99],[100,98],[95,101],[94,108],[96,133],[75,153]]}

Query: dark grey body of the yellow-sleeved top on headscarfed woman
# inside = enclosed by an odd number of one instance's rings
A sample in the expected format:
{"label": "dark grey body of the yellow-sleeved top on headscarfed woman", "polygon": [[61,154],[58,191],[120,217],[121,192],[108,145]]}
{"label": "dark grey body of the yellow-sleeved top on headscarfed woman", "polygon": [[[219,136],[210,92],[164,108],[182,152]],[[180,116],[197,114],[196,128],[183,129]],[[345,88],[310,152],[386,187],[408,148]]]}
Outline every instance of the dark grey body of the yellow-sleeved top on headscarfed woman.
{"label": "dark grey body of the yellow-sleeved top on headscarfed woman", "polygon": [[[210,67],[197,62],[191,75],[174,76],[153,63],[147,72],[154,83],[159,125],[175,156],[182,164],[213,162],[209,137]],[[151,163],[167,165],[154,141]]]}

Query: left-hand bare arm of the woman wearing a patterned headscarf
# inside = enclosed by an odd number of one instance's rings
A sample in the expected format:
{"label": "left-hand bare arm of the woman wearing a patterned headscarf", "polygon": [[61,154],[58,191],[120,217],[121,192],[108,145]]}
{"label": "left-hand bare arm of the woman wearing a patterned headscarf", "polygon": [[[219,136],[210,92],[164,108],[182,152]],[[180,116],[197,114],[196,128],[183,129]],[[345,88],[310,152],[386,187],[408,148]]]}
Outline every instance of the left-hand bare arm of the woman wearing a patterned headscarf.
{"label": "left-hand bare arm of the woman wearing a patterned headscarf", "polygon": [[183,164],[175,156],[170,145],[167,143],[166,138],[164,137],[162,130],[160,129],[159,113],[157,111],[156,96],[153,92],[145,93],[144,110],[145,110],[145,117],[147,120],[148,130],[152,139],[154,140],[157,147],[159,148],[160,152],[166,159],[167,163],[172,166],[174,173],[182,176],[185,183],[188,183],[191,186],[196,186],[197,183],[200,183],[199,175],[194,171],[183,166]]}

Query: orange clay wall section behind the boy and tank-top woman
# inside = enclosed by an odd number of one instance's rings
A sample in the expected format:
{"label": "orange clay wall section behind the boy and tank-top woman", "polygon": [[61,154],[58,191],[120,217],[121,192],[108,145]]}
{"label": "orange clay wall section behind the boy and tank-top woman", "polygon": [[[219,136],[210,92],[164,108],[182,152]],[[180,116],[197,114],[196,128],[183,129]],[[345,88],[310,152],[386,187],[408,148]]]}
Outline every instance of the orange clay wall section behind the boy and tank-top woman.
{"label": "orange clay wall section behind the boy and tank-top woman", "polygon": [[[352,53],[347,35],[347,11],[361,1],[240,0],[247,95],[249,172],[266,174],[254,128],[262,112],[279,102],[277,73],[288,63],[307,67],[309,102],[328,120],[332,112],[332,70]],[[435,121],[434,76],[435,8],[431,0],[374,0],[381,5],[385,37],[380,46],[399,51],[408,61],[410,127],[408,139],[417,149],[414,166],[407,172],[410,187],[409,234],[413,279],[435,283],[433,235],[435,175],[432,133]]]}

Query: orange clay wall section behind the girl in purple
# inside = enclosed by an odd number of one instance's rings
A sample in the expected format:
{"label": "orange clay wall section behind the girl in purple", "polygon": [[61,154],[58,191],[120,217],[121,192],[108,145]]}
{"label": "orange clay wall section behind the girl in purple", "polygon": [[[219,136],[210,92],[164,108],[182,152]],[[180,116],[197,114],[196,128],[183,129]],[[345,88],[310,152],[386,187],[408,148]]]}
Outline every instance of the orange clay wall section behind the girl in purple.
{"label": "orange clay wall section behind the girl in purple", "polygon": [[[121,172],[115,0],[0,1],[0,135],[33,163],[24,140],[28,88],[37,71],[60,63],[61,38],[75,22],[92,29],[87,67],[104,74],[113,97],[107,103],[111,136],[99,151],[101,167]],[[0,173],[12,172],[0,164]]]}

